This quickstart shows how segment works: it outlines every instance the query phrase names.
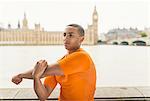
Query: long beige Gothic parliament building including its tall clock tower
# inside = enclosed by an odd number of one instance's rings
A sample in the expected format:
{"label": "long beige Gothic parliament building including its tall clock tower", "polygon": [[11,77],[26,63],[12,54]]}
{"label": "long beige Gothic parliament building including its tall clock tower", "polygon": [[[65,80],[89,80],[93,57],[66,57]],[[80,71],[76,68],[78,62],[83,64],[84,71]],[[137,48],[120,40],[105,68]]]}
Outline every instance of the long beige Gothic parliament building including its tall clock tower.
{"label": "long beige Gothic parliament building including its tall clock tower", "polygon": [[[92,24],[85,29],[84,45],[95,45],[98,41],[98,13],[96,7],[92,14]],[[35,24],[34,29],[29,29],[26,14],[22,20],[22,26],[18,22],[18,28],[0,28],[0,45],[61,45],[63,44],[62,31],[44,31],[40,24]]]}

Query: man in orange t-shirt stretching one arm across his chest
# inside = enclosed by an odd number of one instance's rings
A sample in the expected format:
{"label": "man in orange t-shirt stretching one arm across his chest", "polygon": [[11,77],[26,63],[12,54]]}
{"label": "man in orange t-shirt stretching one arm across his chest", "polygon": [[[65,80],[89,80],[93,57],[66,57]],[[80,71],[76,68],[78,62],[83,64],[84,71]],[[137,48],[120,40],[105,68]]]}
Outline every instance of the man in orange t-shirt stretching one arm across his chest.
{"label": "man in orange t-shirt stretching one arm across his chest", "polygon": [[[64,32],[68,53],[52,65],[40,60],[34,69],[14,76],[12,82],[19,84],[23,78],[33,79],[34,90],[41,101],[49,97],[57,83],[61,86],[59,101],[94,101],[96,71],[88,53],[80,48],[83,40],[84,29],[77,24],[68,25]],[[45,77],[44,84],[42,77]]]}

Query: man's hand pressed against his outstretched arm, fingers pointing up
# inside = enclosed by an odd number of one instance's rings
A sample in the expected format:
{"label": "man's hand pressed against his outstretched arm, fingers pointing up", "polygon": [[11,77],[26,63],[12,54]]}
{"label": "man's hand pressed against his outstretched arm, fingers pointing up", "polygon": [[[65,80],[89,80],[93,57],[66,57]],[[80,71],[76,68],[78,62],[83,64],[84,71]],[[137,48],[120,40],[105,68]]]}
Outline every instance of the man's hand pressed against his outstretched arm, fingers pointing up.
{"label": "man's hand pressed against his outstretched arm, fingers pointing up", "polygon": [[47,67],[48,64],[45,60],[38,61],[32,72],[33,78],[41,78],[42,74],[44,73]]}

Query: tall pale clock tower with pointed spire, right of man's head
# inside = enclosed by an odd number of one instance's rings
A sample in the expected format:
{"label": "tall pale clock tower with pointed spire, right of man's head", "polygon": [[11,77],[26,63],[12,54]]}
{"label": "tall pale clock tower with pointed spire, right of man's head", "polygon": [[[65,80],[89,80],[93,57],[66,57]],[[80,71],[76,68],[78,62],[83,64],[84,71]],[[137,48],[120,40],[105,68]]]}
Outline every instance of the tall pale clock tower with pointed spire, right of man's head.
{"label": "tall pale clock tower with pointed spire, right of man's head", "polygon": [[94,7],[93,12],[93,20],[92,20],[92,26],[93,26],[93,37],[94,37],[94,44],[98,41],[98,13],[96,10],[96,6]]}

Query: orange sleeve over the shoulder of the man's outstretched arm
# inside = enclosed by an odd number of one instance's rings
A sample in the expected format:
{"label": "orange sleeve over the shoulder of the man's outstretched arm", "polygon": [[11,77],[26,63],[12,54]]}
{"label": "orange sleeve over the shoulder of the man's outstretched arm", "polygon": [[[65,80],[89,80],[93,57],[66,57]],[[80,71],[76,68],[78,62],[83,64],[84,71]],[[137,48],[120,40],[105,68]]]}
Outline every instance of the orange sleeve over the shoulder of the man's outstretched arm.
{"label": "orange sleeve over the shoulder of the man's outstretched arm", "polygon": [[84,52],[74,52],[58,61],[65,75],[84,72],[90,67],[89,56]]}

